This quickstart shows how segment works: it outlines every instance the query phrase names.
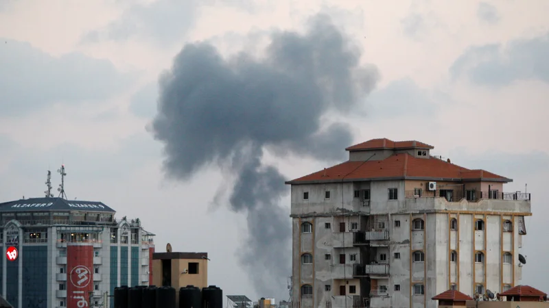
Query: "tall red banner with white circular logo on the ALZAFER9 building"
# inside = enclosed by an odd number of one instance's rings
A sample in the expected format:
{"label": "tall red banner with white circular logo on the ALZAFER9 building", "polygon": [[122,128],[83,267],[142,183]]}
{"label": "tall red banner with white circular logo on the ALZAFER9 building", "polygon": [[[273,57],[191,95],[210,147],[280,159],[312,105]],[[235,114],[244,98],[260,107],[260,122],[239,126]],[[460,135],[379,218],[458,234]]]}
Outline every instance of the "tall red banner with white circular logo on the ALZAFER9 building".
{"label": "tall red banner with white circular logo on the ALZAFER9 building", "polygon": [[93,292],[93,246],[67,246],[67,308],[89,307]]}

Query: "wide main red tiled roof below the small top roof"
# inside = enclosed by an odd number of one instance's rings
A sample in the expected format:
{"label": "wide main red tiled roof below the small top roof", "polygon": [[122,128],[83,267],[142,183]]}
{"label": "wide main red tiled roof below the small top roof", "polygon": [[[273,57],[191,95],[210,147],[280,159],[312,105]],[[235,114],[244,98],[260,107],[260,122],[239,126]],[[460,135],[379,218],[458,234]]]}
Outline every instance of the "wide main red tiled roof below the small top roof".
{"label": "wide main red tiled roof below the small top roof", "polygon": [[382,179],[436,179],[461,181],[482,179],[484,181],[510,182],[511,179],[484,170],[469,170],[434,157],[417,158],[407,153],[397,153],[383,160],[369,162],[344,162],[325,170],[314,172],[286,183],[309,181]]}

